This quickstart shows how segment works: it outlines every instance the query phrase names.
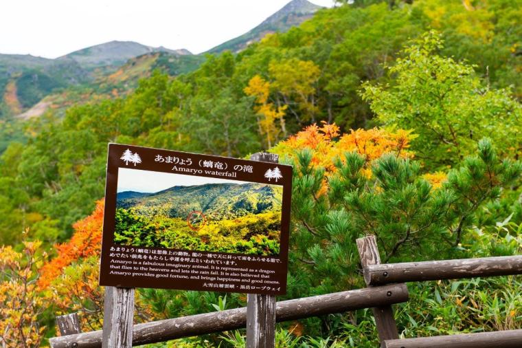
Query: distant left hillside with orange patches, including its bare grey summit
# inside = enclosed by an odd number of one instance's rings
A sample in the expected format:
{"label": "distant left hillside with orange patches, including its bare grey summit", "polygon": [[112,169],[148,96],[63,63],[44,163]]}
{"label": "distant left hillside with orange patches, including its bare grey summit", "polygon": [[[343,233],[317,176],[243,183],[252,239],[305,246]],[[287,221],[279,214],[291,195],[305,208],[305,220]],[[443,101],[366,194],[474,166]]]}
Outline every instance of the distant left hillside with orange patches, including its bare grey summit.
{"label": "distant left hillside with orange patches, including its bare grey summit", "polygon": [[[152,57],[148,61],[153,62],[142,64],[143,56]],[[49,108],[63,109],[71,101],[84,100],[76,96],[78,90],[69,87],[80,87],[82,94],[93,91],[108,94],[115,88],[128,91],[154,69],[174,76],[196,69],[203,60],[188,50],[169,50],[131,41],[102,43],[56,59],[0,54],[0,119],[18,116],[25,120],[41,116]],[[56,94],[60,89],[65,89],[61,97]]]}

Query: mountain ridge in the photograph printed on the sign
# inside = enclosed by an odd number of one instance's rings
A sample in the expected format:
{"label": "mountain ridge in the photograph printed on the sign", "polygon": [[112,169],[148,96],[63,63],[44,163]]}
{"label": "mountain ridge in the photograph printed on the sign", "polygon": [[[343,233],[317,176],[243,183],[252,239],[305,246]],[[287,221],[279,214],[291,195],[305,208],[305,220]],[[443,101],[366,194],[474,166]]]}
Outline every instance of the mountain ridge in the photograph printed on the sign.
{"label": "mountain ridge in the photograph printed on the sign", "polygon": [[118,208],[133,208],[140,215],[166,215],[185,219],[199,210],[209,219],[234,218],[247,213],[280,210],[282,188],[268,184],[203,184],[173,186],[157,193],[124,191]]}

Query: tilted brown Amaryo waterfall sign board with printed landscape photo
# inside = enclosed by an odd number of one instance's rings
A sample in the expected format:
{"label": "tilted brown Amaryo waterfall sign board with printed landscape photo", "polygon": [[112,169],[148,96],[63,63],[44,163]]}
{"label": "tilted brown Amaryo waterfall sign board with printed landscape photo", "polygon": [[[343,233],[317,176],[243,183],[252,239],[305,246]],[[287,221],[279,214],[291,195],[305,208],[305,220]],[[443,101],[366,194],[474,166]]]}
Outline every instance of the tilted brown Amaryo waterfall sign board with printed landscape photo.
{"label": "tilted brown Amaryo waterfall sign board with printed landscape photo", "polygon": [[109,144],[100,285],[285,294],[292,167]]}

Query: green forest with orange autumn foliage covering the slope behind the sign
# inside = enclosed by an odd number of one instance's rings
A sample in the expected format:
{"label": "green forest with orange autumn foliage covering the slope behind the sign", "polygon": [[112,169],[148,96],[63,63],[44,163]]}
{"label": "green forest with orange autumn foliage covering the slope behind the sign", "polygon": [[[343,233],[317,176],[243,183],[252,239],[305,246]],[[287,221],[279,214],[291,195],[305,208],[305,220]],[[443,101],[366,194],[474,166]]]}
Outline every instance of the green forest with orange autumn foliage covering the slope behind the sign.
{"label": "green forest with orange autumn foliage covering the slope behind the sign", "polygon": [[[521,0],[339,1],[191,72],[156,70],[125,96],[16,124],[0,155],[1,343],[45,347],[55,316],[72,312],[84,331],[101,329],[107,142],[269,151],[291,164],[288,291],[278,300],[365,287],[355,244],[365,235],[376,235],[383,262],[522,254],[521,19]],[[118,214],[137,232],[152,223]],[[273,224],[262,214],[262,228]],[[245,253],[276,252],[262,234],[245,239],[252,218],[212,228],[240,234]],[[395,307],[400,335],[522,329],[521,288],[521,276],[408,283],[410,300]],[[137,289],[135,323],[246,300]],[[361,309],[280,323],[276,342],[378,347],[378,335]],[[245,347],[245,330],[148,347]]]}

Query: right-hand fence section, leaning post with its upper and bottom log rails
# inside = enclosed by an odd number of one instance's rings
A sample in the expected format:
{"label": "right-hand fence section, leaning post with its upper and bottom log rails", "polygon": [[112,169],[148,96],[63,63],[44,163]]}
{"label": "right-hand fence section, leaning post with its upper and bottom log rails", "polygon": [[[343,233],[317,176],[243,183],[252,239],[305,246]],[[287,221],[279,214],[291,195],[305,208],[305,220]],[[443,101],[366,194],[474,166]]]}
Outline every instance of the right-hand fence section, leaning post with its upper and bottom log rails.
{"label": "right-hand fence section, leaning post with its upper and bottom log rails", "polygon": [[[381,264],[375,236],[357,239],[363,274],[367,286],[409,281],[438,281],[444,279],[473,278],[475,276],[503,276],[522,274],[522,255],[512,257],[484,257],[407,263]],[[364,263],[364,255],[372,262]],[[375,310],[374,310],[375,314]],[[387,312],[387,325],[395,324],[391,309]],[[485,348],[522,347],[522,330],[455,334],[425,338],[398,338],[395,330],[379,323],[376,326],[383,348]]]}

